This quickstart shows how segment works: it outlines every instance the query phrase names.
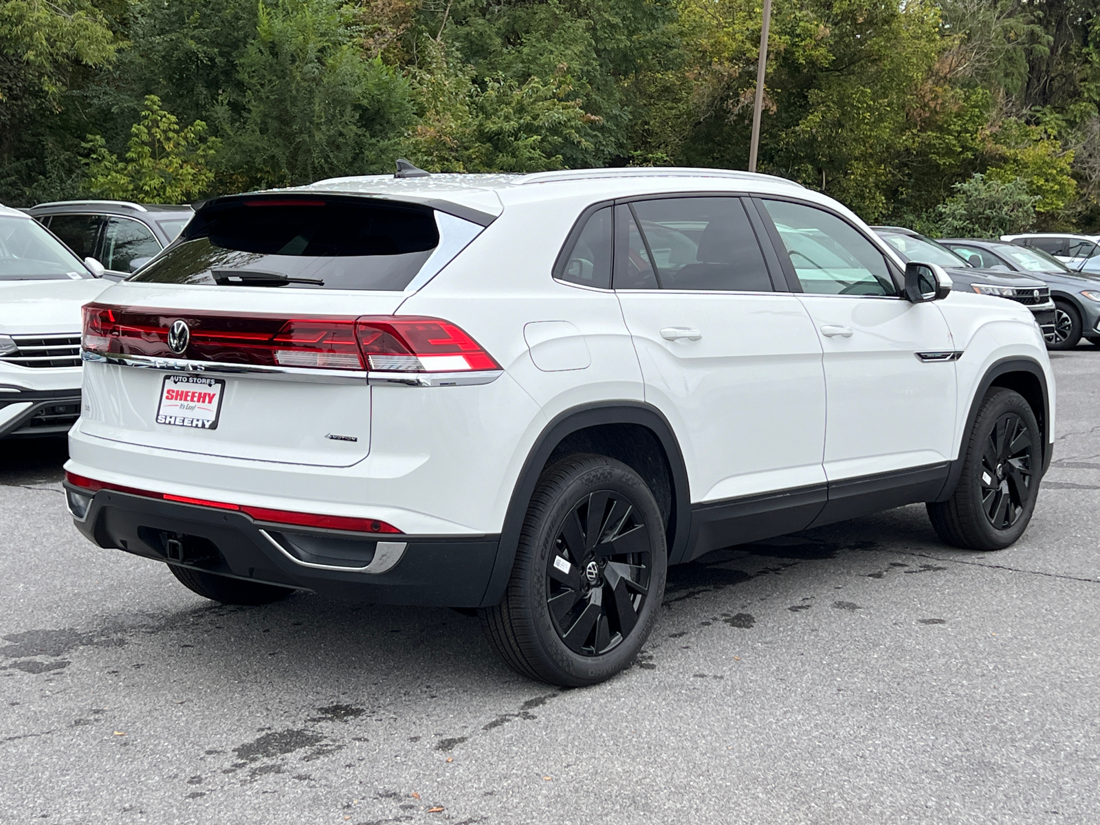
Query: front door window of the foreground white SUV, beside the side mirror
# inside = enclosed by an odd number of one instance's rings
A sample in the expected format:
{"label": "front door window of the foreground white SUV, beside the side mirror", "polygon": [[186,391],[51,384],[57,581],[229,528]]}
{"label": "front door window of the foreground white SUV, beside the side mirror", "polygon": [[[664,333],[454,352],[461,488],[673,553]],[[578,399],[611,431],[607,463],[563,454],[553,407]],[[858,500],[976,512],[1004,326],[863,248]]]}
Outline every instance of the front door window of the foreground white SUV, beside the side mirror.
{"label": "front door window of the foreground white SUV, beside the side mirror", "polygon": [[762,202],[804,293],[898,294],[882,253],[847,221],[804,204]]}

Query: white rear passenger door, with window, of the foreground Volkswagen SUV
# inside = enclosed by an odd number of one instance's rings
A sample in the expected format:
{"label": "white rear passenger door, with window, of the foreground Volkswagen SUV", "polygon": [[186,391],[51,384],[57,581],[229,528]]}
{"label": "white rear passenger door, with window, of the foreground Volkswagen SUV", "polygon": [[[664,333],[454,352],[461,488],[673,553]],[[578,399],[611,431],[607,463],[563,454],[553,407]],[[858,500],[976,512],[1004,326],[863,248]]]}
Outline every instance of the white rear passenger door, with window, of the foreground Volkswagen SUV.
{"label": "white rear passenger door, with window, of the foreground Volkswagen SUV", "polygon": [[737,197],[615,209],[614,286],[646,399],[680,436],[692,502],[812,488],[816,503],[787,522],[804,527],[824,501],[822,348],[799,299],[776,288],[762,223]]}

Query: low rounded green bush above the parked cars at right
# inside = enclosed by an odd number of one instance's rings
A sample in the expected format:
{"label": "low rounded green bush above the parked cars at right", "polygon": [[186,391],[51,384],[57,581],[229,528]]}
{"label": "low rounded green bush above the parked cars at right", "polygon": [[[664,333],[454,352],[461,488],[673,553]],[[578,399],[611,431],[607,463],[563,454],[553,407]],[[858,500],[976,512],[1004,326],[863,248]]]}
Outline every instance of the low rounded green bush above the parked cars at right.
{"label": "low rounded green bush above the parked cars at right", "polygon": [[1035,226],[1038,198],[1020,179],[1002,182],[975,174],[953,187],[955,195],[937,207],[935,234],[947,238],[1000,238]]}

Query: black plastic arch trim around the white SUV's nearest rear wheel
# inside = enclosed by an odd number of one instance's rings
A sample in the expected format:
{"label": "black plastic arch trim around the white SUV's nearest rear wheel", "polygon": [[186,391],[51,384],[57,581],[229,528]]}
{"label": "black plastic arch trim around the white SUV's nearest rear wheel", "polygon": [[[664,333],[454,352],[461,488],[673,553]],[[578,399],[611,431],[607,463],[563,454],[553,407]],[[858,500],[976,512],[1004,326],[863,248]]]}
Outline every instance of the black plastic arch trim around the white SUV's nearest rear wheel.
{"label": "black plastic arch trim around the white SUV's nearest rear wheel", "polygon": [[682,560],[688,551],[688,539],[691,532],[691,492],[688,485],[688,468],[684,464],[680,442],[676,440],[664,415],[650,404],[644,402],[618,400],[584,404],[566,409],[557,415],[535,440],[535,446],[527,454],[519,477],[513,488],[512,499],[504,517],[501,530],[501,542],[497,548],[496,562],[490,576],[482,606],[497,604],[504,596],[504,590],[512,575],[512,566],[516,560],[516,548],[519,544],[519,534],[530,506],[535,485],[538,483],[542,469],[558,447],[573,432],[601,425],[629,424],[639,425],[650,430],[660,442],[668,460],[672,481],[672,512],[670,524],[666,526],[669,538],[669,564]]}

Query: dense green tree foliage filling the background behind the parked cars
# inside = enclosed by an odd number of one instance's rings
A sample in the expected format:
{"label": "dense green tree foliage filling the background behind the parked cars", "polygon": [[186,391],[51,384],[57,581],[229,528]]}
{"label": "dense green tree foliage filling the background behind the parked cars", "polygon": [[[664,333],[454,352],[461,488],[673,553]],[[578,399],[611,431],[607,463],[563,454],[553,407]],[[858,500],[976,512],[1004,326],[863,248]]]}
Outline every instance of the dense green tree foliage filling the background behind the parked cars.
{"label": "dense green tree foliage filling the background behind the parked cars", "polygon": [[[760,169],[871,221],[1094,229],[1098,11],[774,0]],[[432,170],[744,168],[760,13],[760,0],[6,0],[0,200],[195,199],[388,172],[399,155]]]}

